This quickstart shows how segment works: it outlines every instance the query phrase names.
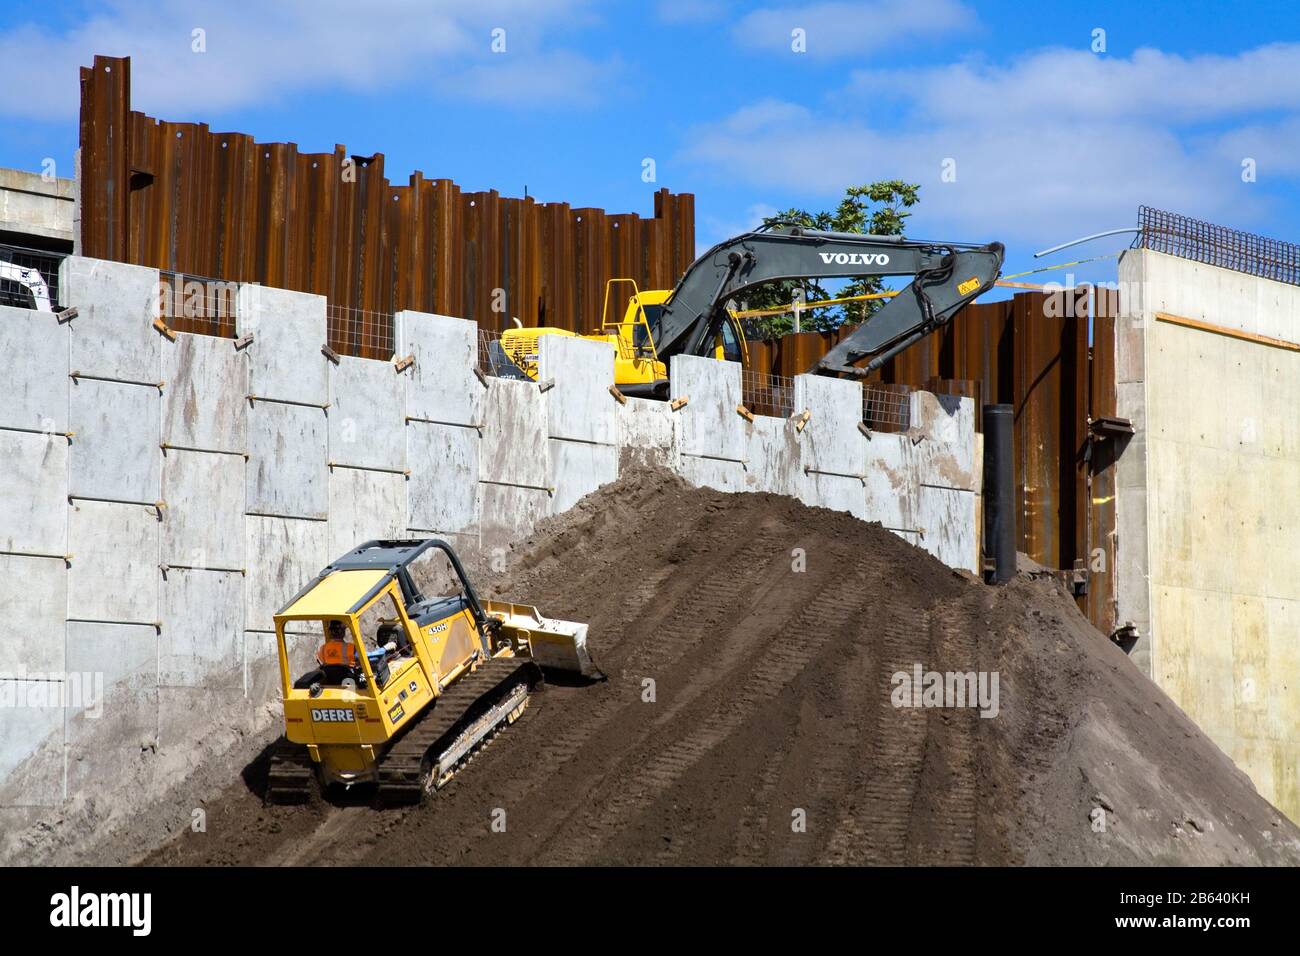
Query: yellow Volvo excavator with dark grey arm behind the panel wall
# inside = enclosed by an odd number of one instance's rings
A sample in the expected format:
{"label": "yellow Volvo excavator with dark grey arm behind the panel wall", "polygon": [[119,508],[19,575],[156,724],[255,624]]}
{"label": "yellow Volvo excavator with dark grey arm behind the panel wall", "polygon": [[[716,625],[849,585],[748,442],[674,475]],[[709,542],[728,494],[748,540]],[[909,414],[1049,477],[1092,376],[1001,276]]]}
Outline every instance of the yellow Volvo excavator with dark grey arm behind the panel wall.
{"label": "yellow Volvo excavator with dark grey arm behind the panel wall", "polygon": [[[913,276],[906,289],[810,369],[863,378],[992,289],[1002,256],[1000,242],[975,246],[776,224],[718,243],[692,263],[671,290],[642,291],[630,278],[610,280],[601,329],[581,337],[614,346],[614,384],[620,392],[664,398],[673,355],[702,355],[748,367],[745,336],[727,303],[750,289],[802,278]],[[623,315],[611,313],[614,290],[628,286]],[[493,372],[536,381],[542,336],[576,334],[555,328],[507,329],[489,356]],[[859,367],[862,359],[870,362]]]}

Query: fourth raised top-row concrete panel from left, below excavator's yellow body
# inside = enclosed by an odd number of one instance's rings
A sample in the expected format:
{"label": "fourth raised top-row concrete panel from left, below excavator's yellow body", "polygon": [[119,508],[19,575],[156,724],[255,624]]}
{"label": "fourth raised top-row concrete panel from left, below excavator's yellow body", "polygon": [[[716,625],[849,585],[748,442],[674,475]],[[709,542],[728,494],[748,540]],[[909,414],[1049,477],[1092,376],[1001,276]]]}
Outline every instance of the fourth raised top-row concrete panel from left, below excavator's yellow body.
{"label": "fourth raised top-row concrete panel from left, below excavator's yellow body", "polygon": [[610,394],[614,346],[571,336],[542,336],[537,377],[555,382],[546,393],[551,438],[601,445],[618,441],[618,402]]}

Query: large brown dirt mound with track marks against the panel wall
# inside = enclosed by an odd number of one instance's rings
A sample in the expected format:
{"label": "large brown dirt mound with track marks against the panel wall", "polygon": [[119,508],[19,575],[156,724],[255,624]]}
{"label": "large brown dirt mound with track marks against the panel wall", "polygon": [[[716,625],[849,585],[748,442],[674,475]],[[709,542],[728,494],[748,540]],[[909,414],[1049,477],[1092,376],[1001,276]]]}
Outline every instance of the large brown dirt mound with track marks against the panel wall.
{"label": "large brown dirt mound with track marks against the panel wall", "polygon": [[[150,861],[1300,862],[1049,580],[989,588],[879,525],[634,470],[488,585],[589,620],[608,680],[552,683],[419,809],[264,809],[231,767],[207,832]],[[916,666],[996,672],[997,714],[896,706]]]}

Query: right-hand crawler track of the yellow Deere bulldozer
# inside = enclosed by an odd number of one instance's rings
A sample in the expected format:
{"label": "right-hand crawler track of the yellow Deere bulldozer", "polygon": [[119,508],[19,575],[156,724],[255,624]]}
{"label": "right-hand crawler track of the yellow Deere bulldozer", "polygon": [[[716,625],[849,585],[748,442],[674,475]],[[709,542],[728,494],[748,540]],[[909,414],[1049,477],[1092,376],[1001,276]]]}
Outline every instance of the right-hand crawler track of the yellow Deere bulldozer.
{"label": "right-hand crawler track of the yellow Deere bulldozer", "polygon": [[[468,676],[451,685],[415,724],[387,749],[378,766],[378,796],[387,806],[419,804],[430,783],[441,786],[460,765],[490,740],[490,735],[462,756],[455,766],[445,769],[438,780],[429,780],[430,753],[439,745],[450,744],[476,718],[486,713],[498,697],[520,683],[528,691],[542,682],[541,669],[526,658],[493,658],[478,665]],[[515,711],[502,714],[500,723],[514,719]]]}

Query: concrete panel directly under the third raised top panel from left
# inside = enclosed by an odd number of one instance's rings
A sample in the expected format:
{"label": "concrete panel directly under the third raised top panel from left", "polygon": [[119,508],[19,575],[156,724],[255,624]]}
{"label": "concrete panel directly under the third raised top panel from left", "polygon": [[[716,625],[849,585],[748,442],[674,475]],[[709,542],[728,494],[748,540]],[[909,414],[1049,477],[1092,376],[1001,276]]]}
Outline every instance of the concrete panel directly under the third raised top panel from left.
{"label": "concrete panel directly under the third raised top panel from left", "polygon": [[477,531],[477,429],[411,421],[406,438],[411,462],[407,527],[430,532]]}

